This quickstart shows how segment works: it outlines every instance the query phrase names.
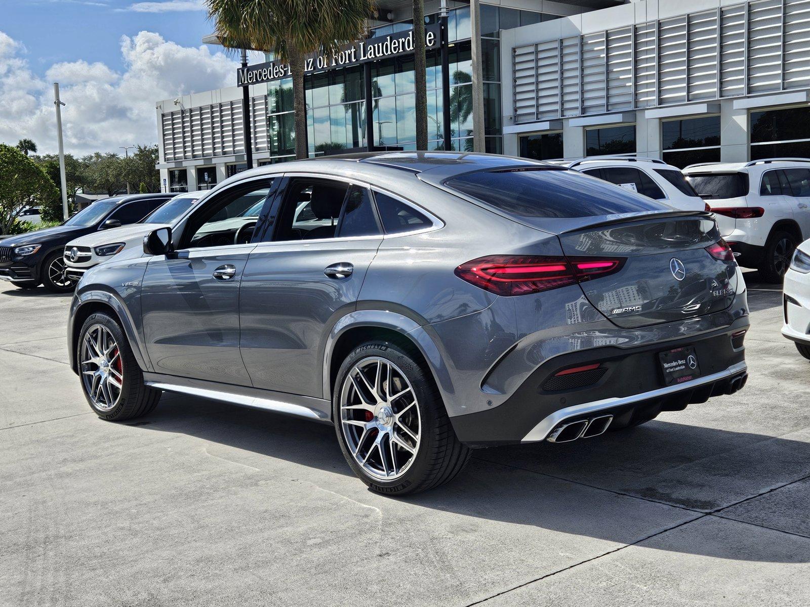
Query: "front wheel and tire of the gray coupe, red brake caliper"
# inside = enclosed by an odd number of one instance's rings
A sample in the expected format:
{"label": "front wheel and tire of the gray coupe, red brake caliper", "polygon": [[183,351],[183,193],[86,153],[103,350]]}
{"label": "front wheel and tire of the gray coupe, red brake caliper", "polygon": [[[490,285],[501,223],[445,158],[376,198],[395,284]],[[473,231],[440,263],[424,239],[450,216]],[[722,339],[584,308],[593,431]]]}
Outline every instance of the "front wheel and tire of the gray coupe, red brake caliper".
{"label": "front wheel and tire of the gray coupe, red brake caliper", "polygon": [[84,397],[100,418],[137,418],[156,407],[160,390],[143,383],[138,361],[112,316],[98,312],[87,318],[76,354]]}

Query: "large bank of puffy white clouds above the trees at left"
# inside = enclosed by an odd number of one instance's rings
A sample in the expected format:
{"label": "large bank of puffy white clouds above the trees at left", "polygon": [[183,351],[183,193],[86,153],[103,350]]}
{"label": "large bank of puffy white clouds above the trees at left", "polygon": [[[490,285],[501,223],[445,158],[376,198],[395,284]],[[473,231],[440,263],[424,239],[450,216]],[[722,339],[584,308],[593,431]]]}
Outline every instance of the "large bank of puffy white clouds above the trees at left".
{"label": "large bank of puffy white clouds above the trees at left", "polygon": [[123,73],[101,62],[61,62],[32,73],[24,48],[0,32],[0,142],[32,138],[57,150],[53,82],[60,83],[65,151],[83,155],[157,141],[156,101],[232,86],[237,62],[206,46],[183,47],[159,34],[122,36]]}

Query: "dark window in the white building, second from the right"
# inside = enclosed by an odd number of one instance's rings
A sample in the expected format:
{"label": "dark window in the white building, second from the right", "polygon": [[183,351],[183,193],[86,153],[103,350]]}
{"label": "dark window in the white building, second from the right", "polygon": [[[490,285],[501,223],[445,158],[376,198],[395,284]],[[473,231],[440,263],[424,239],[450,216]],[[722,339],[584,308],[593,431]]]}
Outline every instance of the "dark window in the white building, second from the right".
{"label": "dark window in the white building, second from the right", "polygon": [[661,123],[663,160],[678,168],[720,161],[720,117],[706,116]]}

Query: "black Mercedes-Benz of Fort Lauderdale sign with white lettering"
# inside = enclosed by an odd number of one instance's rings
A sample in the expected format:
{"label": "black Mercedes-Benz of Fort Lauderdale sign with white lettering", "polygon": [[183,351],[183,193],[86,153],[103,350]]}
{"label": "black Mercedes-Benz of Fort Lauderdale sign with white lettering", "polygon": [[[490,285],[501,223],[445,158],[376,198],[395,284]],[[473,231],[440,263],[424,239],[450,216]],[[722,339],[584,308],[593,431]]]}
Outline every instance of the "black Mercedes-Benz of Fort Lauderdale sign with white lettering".
{"label": "black Mercedes-Benz of Fort Lauderdale sign with white lettering", "polygon": [[[435,49],[439,45],[439,26],[428,25],[424,28],[424,46]],[[388,36],[377,36],[358,40],[351,45],[344,45],[327,54],[312,54],[306,57],[304,73],[312,74],[336,67],[355,66],[360,63],[373,62],[377,59],[395,57],[403,53],[413,53],[413,30],[397,32]],[[241,67],[237,70],[237,85],[246,87],[249,84],[269,83],[272,80],[290,78],[292,73],[288,63],[265,62],[254,66]]]}

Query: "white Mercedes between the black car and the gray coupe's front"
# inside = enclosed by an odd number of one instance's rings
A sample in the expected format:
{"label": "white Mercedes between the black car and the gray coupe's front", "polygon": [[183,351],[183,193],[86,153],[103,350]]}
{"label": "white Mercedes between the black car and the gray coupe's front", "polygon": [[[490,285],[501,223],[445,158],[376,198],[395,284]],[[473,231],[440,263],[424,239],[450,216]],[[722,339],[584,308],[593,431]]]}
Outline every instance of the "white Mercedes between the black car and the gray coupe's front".
{"label": "white Mercedes between the black car and the gray coupe's front", "polygon": [[65,246],[65,274],[79,280],[87,270],[125,248],[143,246],[143,236],[158,227],[171,226],[207,192],[179,194],[153,210],[140,223],[130,223],[111,230],[102,230],[70,240]]}

